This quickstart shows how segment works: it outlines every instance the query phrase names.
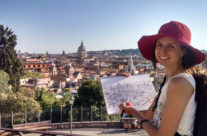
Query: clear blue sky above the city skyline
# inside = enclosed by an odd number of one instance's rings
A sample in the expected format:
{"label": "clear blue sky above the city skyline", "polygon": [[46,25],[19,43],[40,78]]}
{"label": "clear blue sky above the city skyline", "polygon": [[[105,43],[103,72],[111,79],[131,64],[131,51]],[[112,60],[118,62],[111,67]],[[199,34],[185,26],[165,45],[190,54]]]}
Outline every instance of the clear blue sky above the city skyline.
{"label": "clear blue sky above the city skyline", "polygon": [[136,49],[143,35],[175,20],[191,30],[191,45],[207,49],[206,0],[0,0],[0,24],[17,35],[15,49],[73,53]]}

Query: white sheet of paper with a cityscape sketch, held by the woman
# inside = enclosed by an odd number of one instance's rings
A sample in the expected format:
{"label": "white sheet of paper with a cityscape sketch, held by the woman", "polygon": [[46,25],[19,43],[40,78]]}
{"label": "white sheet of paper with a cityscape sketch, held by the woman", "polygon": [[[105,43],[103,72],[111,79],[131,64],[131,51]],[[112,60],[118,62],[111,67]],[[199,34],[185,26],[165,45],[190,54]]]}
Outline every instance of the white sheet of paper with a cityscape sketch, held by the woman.
{"label": "white sheet of paper with a cityscape sketch, held by the woman", "polygon": [[132,103],[137,110],[147,110],[156,95],[149,74],[130,77],[101,78],[101,85],[109,115],[120,114],[119,104]]}

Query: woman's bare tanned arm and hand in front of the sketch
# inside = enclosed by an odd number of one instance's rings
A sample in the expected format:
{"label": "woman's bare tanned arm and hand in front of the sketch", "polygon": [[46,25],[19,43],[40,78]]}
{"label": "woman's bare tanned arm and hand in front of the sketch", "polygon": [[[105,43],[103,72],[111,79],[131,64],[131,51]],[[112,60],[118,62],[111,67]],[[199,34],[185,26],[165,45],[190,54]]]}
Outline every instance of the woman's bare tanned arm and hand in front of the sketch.
{"label": "woman's bare tanned arm and hand in front of the sketch", "polygon": [[[167,101],[162,113],[160,128],[144,122],[143,128],[150,136],[173,136],[178,128],[185,107],[193,94],[192,85],[184,78],[173,78],[168,86]],[[135,109],[124,106],[125,112],[135,116],[138,121],[143,117]]]}

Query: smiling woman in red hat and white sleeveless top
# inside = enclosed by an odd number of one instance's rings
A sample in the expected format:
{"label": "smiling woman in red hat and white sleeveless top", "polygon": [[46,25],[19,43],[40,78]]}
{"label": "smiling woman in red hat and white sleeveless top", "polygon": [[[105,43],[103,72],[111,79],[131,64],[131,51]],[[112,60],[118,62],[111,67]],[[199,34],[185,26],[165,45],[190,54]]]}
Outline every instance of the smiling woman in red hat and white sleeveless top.
{"label": "smiling woman in red hat and white sleeveless top", "polygon": [[136,117],[150,136],[193,135],[197,106],[194,75],[203,72],[195,65],[205,59],[205,54],[192,47],[190,40],[189,28],[171,21],[162,25],[158,34],[138,41],[140,52],[155,68],[156,63],[165,67],[165,83],[149,110],[138,112],[124,103],[120,110]]}

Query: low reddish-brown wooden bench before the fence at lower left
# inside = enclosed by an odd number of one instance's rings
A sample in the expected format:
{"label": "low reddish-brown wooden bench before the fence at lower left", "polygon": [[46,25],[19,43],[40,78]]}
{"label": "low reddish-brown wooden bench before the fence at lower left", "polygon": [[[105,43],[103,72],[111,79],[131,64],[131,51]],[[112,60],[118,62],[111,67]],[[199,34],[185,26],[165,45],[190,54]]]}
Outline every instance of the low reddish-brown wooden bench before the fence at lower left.
{"label": "low reddish-brown wooden bench before the fence at lower left", "polygon": [[51,129],[51,121],[41,121],[26,124],[13,125],[14,129],[29,129],[29,130],[49,130]]}

